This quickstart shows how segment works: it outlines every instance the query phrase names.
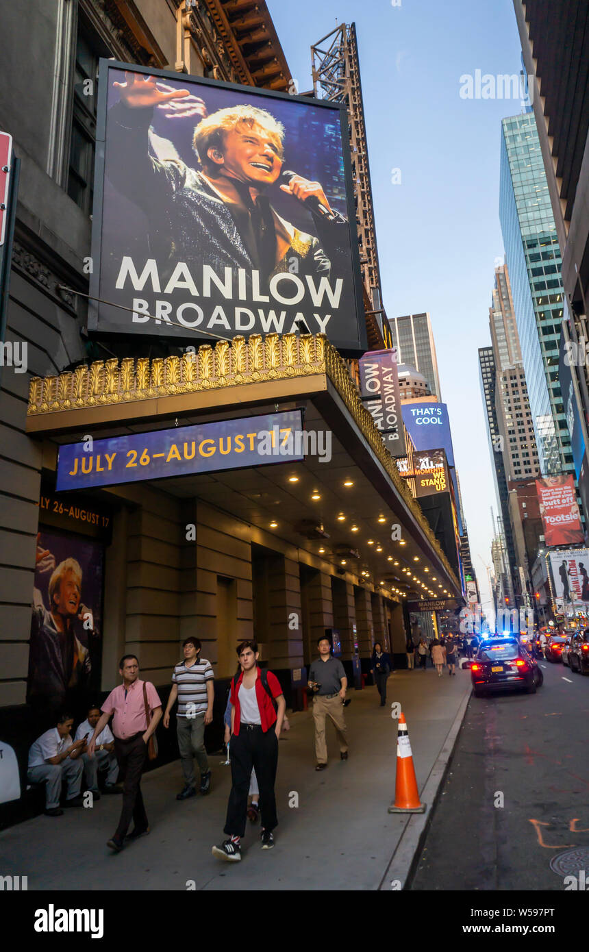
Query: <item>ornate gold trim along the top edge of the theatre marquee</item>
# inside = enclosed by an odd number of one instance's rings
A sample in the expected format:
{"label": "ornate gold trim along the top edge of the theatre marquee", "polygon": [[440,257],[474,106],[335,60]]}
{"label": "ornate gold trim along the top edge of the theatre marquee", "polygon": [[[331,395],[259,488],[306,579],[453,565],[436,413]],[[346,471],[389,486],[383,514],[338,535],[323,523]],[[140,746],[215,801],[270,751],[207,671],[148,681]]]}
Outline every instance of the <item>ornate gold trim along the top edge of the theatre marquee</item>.
{"label": "ornate gold trim along the top edge of the theatre marquee", "polygon": [[436,539],[419,503],[384,446],[383,438],[368,410],[343,358],[324,334],[252,334],[204,344],[182,357],[116,357],[94,361],[53,377],[33,377],[29,385],[29,416],[63,410],[125,404],[154,397],[179,396],[199,390],[258,384],[323,373],[342,397],[364,438],[381,462],[391,481],[430,545],[437,550],[442,565],[460,591],[460,585]]}

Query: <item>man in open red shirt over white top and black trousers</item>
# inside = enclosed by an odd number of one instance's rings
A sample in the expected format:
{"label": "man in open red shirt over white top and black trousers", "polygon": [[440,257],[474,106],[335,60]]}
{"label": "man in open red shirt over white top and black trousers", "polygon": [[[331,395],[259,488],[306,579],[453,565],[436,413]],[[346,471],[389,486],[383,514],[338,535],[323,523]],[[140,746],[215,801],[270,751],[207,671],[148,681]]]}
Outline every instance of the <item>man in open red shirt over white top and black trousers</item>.
{"label": "man in open red shirt over white top and black trousers", "polygon": [[[224,832],[229,837],[212,854],[220,860],[241,860],[241,839],[245,835],[247,792],[252,767],[260,788],[262,848],[274,845],[272,830],[278,824],[274,781],[278,765],[278,738],[285,719],[286,702],[278,678],[256,664],[258,645],[253,641],[237,646],[241,672],[231,681],[231,792]],[[276,707],[274,706],[276,702]]]}

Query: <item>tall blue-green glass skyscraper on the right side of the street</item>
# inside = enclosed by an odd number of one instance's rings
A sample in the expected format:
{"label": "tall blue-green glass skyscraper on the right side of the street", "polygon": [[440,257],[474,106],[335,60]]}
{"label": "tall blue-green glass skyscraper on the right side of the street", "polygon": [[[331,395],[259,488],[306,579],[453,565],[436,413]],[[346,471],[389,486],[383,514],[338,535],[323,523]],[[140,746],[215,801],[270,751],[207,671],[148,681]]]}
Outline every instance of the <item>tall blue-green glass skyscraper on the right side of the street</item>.
{"label": "tall blue-green glass skyscraper on the right side of the street", "polygon": [[559,384],[560,247],[531,112],[501,123],[500,219],[540,472],[574,472]]}

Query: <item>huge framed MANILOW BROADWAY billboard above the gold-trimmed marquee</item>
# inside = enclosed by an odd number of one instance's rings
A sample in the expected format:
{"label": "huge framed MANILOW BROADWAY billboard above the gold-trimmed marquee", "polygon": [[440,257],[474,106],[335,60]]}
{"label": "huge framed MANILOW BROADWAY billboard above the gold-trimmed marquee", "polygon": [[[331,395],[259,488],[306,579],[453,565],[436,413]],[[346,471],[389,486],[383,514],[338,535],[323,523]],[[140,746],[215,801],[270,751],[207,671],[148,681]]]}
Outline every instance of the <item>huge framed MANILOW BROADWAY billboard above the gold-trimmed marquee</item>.
{"label": "huge framed MANILOW BROADWAY billboard above the gold-trimmed marquee", "polygon": [[90,330],[366,349],[344,107],[110,60],[99,95]]}

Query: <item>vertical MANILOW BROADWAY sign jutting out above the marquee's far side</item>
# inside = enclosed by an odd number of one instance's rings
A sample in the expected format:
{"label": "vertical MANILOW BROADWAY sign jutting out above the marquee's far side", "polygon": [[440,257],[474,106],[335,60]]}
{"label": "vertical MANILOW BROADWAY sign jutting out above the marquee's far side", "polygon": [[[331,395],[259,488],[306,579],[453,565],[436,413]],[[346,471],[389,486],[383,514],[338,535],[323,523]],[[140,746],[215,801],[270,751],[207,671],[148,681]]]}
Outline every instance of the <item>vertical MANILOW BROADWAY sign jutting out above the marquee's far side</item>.
{"label": "vertical MANILOW BROADWAY sign jutting out above the marquee's far side", "polygon": [[396,347],[370,350],[359,361],[364,407],[381,431],[391,456],[403,456],[405,453],[397,363]]}

